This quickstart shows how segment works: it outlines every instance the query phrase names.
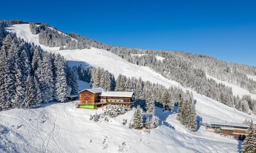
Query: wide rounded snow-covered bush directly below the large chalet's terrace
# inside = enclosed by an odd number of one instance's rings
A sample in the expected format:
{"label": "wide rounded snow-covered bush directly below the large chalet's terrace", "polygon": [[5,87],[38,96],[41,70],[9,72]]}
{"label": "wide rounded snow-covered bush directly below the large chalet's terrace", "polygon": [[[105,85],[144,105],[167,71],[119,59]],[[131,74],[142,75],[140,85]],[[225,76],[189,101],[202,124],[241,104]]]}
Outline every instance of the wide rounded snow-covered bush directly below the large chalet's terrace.
{"label": "wide rounded snow-covered bush directly below the large chalet's terrace", "polygon": [[124,114],[125,112],[125,107],[119,105],[107,105],[106,109],[104,109],[104,113],[112,118]]}

